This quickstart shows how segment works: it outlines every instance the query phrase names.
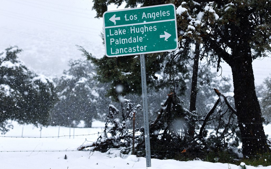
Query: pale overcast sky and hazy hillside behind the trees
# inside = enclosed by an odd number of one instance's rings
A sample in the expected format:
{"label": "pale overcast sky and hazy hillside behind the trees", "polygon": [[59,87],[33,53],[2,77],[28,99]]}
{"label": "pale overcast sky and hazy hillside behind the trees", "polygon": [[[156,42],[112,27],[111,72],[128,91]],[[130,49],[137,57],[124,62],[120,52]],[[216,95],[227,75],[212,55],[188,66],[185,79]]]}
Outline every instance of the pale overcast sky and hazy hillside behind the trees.
{"label": "pale overcast sky and hazy hillside behind the trees", "polygon": [[[92,0],[1,0],[0,51],[17,45],[23,49],[20,59],[47,76],[61,75],[70,59],[84,59],[75,45],[99,58],[105,51],[99,36],[103,20],[94,18],[92,5]],[[253,68],[255,83],[261,84],[271,74],[271,59],[256,60]],[[223,64],[223,75],[228,74]]]}

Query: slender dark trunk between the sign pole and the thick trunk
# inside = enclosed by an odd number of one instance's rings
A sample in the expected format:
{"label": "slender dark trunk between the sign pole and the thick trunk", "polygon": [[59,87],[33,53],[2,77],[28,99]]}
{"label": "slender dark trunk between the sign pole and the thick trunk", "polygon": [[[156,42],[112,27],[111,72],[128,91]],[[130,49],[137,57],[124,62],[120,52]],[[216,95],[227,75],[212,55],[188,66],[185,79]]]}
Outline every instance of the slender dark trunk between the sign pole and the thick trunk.
{"label": "slender dark trunk between the sign pole and the thick trunk", "polygon": [[[200,57],[200,43],[196,42],[196,47],[195,47],[195,52],[194,52],[191,94],[190,94],[190,107],[189,107],[190,112],[196,111],[199,57]],[[188,123],[188,135],[193,138],[194,134],[195,134],[195,124]]]}

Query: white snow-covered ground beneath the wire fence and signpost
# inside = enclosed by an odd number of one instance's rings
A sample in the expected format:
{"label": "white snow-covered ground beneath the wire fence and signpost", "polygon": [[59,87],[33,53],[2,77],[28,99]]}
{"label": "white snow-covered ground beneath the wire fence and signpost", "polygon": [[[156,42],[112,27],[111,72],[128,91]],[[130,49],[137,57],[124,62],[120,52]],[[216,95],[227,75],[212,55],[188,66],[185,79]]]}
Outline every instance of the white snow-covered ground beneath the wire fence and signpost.
{"label": "white snow-covered ground beneath the wire fence and signpost", "polygon": [[[137,158],[133,155],[123,156],[119,151],[112,150],[110,154],[98,151],[77,151],[77,148],[86,139],[87,141],[97,140],[97,133],[103,130],[103,122],[93,122],[93,128],[75,128],[74,130],[58,126],[49,126],[40,130],[32,125],[18,125],[17,123],[13,123],[13,125],[14,129],[5,135],[0,135],[0,168],[3,169],[146,168],[145,158]],[[271,126],[264,126],[264,128],[266,134],[270,135]],[[75,136],[73,137],[73,135]],[[67,159],[64,159],[65,155]],[[151,162],[152,167],[148,167],[148,169],[241,169],[240,166],[234,164],[203,161],[182,162],[152,159]],[[256,167],[246,166],[246,168]],[[271,166],[257,168],[271,169]]]}

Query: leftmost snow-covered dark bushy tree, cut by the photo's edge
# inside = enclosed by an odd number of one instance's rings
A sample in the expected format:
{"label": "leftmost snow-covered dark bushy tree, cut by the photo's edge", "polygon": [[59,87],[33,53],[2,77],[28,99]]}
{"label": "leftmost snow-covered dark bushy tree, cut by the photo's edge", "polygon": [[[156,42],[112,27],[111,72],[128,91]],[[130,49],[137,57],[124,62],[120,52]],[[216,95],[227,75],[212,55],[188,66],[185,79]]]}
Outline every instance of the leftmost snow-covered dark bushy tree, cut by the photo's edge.
{"label": "leftmost snow-covered dark bushy tree, cut by the photo's edge", "polygon": [[54,82],[29,70],[17,56],[21,51],[18,47],[9,47],[0,53],[0,130],[3,133],[8,131],[8,120],[47,125],[49,110],[56,99]]}

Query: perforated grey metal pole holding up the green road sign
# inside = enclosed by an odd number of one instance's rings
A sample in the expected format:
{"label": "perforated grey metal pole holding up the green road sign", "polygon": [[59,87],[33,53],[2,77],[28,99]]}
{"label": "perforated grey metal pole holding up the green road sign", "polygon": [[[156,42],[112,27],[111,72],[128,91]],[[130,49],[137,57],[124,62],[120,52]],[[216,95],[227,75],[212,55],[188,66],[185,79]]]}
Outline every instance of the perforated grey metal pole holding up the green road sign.
{"label": "perforated grey metal pole holding up the green road sign", "polygon": [[147,82],[146,82],[146,68],[145,68],[145,54],[140,54],[140,68],[141,68],[141,85],[142,85],[142,99],[144,112],[144,133],[145,133],[145,149],[146,149],[146,166],[151,167],[151,148],[150,148],[150,131],[149,131],[149,110],[147,99]]}

